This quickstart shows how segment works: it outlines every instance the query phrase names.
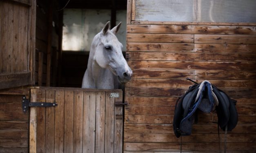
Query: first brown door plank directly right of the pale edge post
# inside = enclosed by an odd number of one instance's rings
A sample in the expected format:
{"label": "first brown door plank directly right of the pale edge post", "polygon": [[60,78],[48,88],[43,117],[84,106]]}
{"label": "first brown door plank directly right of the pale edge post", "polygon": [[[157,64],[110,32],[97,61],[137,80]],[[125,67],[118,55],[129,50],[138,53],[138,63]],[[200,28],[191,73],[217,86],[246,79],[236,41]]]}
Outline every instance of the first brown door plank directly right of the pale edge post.
{"label": "first brown door plank directly right of the pale edge post", "polygon": [[[37,90],[36,92],[37,94],[37,101],[38,102],[43,102],[45,103],[46,100],[46,92],[45,90]],[[46,118],[46,115],[45,115],[45,107],[37,107],[36,108],[36,118],[37,118],[37,151],[38,152],[41,152],[41,153],[45,153],[45,136],[46,136],[46,133],[45,133],[45,128],[46,128],[46,125],[45,125],[45,118]]]}

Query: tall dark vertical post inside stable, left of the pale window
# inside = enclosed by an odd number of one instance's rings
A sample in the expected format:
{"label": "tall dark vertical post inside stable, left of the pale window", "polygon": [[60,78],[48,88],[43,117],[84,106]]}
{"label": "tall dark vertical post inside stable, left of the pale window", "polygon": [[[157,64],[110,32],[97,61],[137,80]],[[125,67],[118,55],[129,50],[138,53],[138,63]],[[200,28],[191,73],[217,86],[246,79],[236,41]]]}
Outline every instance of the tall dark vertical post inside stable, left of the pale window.
{"label": "tall dark vertical post inside stable, left of the pale window", "polygon": [[51,83],[51,37],[52,37],[52,21],[53,21],[53,0],[50,1],[48,12],[48,39],[47,39],[47,67],[46,67],[46,86]]}

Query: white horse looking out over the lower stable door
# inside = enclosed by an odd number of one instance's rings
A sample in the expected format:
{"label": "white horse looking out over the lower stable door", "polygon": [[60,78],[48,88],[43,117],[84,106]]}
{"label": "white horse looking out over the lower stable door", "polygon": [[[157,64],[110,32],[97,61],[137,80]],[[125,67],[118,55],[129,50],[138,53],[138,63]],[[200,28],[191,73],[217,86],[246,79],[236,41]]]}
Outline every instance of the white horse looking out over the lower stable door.
{"label": "white horse looking out over the lower stable door", "polygon": [[118,89],[120,84],[131,79],[132,70],[122,55],[123,46],[116,37],[120,25],[121,22],[110,30],[107,22],[93,38],[82,88]]}

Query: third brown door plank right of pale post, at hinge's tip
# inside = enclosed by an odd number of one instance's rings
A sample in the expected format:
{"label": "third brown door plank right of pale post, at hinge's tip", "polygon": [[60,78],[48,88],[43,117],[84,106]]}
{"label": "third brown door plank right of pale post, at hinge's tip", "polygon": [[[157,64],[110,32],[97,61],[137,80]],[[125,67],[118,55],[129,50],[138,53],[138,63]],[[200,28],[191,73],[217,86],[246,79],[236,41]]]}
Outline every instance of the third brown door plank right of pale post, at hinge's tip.
{"label": "third brown door plank right of pale post, at hinge's tip", "polygon": [[55,108],[54,152],[62,153],[64,150],[65,91],[56,90],[55,100],[58,106]]}

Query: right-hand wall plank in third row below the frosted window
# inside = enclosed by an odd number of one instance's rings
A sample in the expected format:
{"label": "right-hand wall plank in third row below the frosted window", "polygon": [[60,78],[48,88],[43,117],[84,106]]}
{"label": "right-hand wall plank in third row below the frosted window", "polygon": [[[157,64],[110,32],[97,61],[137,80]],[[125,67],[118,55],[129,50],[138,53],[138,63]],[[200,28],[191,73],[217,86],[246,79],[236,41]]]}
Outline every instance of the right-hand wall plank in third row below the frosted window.
{"label": "right-hand wall plank in third row below the frosted window", "polygon": [[194,44],[195,52],[256,53],[252,44]]}

